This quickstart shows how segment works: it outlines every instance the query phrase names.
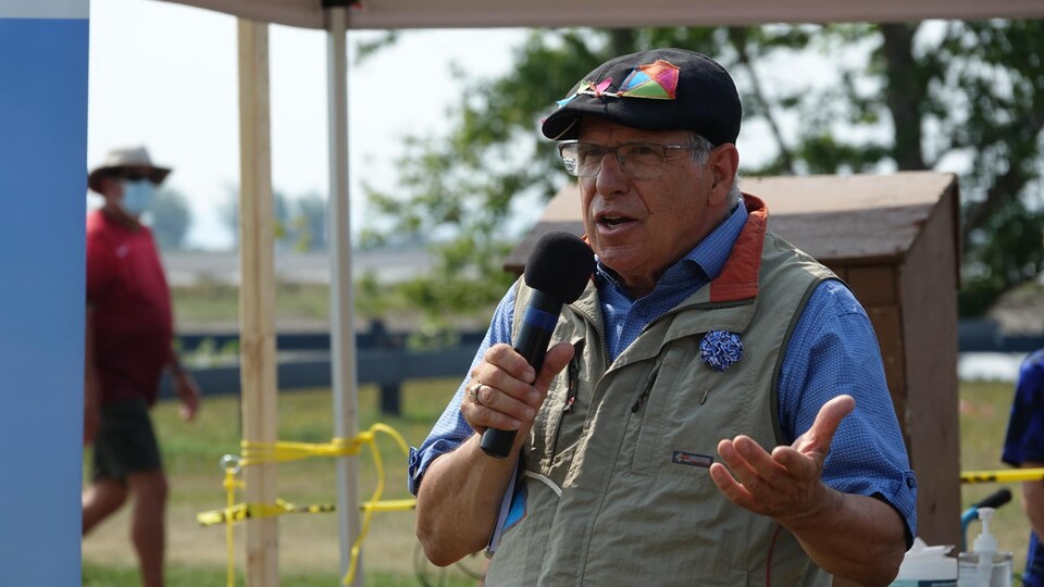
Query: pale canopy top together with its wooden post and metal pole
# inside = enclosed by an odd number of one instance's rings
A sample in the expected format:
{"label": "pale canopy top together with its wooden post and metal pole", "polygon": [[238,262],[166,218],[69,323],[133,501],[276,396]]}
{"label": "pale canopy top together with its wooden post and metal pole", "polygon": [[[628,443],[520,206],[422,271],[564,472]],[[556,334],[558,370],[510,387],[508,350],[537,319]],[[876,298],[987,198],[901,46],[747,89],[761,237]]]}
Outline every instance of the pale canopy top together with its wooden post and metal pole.
{"label": "pale canopy top together with its wooden post and metal pole", "polygon": [[[240,190],[244,294],[240,296],[244,353],[244,437],[275,440],[275,333],[271,235],[268,37],[263,24],[322,28],[328,33],[330,242],[332,364],[337,437],[357,434],[355,336],[348,215],[347,55],[352,29],[442,27],[637,27],[757,24],[772,22],[903,22],[923,18],[977,20],[1044,17],[1041,0],[167,0],[229,13],[239,25]],[[325,4],[338,4],[324,7]],[[350,5],[349,5],[350,4]],[[550,100],[550,97],[549,97]],[[247,476],[247,497],[272,501],[275,471],[258,467]],[[341,572],[359,534],[355,462],[338,462]],[[250,585],[276,585],[277,539],[272,520],[247,529]],[[361,567],[356,584],[361,584]]]}

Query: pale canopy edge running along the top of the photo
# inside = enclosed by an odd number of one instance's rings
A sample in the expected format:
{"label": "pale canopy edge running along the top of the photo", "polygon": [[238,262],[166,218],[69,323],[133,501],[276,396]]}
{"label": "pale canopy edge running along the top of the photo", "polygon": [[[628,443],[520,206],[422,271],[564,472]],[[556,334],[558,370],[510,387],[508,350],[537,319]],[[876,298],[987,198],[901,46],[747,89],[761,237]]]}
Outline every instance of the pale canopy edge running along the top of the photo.
{"label": "pale canopy edge running along the top of the photo", "polygon": [[[320,0],[170,0],[245,18],[326,28]],[[332,3],[332,2],[326,2]],[[336,3],[336,2],[333,2]],[[1039,17],[1040,0],[361,0],[349,28],[698,26],[750,23],[899,22]]]}

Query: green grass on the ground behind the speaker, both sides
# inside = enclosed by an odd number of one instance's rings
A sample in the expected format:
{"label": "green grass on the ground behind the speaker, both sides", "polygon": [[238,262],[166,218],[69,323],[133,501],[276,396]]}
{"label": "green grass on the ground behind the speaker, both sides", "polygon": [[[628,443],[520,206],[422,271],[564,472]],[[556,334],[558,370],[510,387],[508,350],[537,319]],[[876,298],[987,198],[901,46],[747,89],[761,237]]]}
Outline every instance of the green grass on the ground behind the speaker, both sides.
{"label": "green grass on the ground behind the speaker, both sides", "polygon": [[[399,430],[413,446],[427,435],[458,385],[456,379],[413,383],[403,387],[399,417],[382,419],[373,386],[359,391],[360,429],[383,421]],[[964,383],[960,387],[961,470],[1003,469],[999,454],[1007,425],[1012,386],[997,383]],[[171,478],[167,514],[169,585],[222,586],[225,584],[225,533],[223,527],[200,527],[195,515],[219,509],[225,495],[221,487],[219,461],[238,452],[239,403],[236,397],[207,398],[198,420],[186,424],[177,417],[175,402],[161,402],[153,411],[163,458]],[[332,400],[328,389],[290,391],[278,398],[279,438],[323,442],[333,436]],[[409,497],[406,489],[406,458],[390,439],[378,436],[387,474],[384,499]],[[85,463],[87,461],[85,460]],[[360,459],[360,495],[369,499],[376,482],[369,453]],[[315,458],[284,463],[278,469],[279,496],[296,503],[336,502],[336,466],[333,459]],[[961,487],[965,508],[993,492],[996,484]],[[1016,496],[1018,485],[1009,486]],[[240,496],[241,499],[241,496]],[[1018,503],[1002,508],[994,522],[1000,546],[1015,553],[1015,567],[1026,563],[1029,523]],[[279,519],[279,573],[283,585],[337,585],[339,554],[336,514],[285,515]],[[969,540],[979,524],[969,528]],[[241,573],[244,533],[236,529],[236,564]],[[465,570],[481,570],[481,557],[469,559],[463,569],[447,571],[415,567],[418,542],[413,536],[413,512],[374,515],[364,545],[365,583],[378,586],[475,585]],[[122,587],[138,585],[133,550],[127,538],[127,513],[107,521],[84,541],[84,585]]]}

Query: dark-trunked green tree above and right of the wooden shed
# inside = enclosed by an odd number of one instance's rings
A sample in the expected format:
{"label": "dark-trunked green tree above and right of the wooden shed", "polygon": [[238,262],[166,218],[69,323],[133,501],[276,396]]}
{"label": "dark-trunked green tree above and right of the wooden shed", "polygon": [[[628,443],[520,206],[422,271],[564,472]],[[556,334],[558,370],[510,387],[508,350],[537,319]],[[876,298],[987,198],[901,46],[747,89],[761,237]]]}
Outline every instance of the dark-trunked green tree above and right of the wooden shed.
{"label": "dark-trunked green tree above and right of the wooden shed", "polygon": [[[731,37],[742,54],[746,42]],[[792,148],[779,141],[780,155],[763,171],[931,170],[966,160],[961,314],[981,315],[1036,277],[1044,268],[1044,22],[830,26],[818,41],[831,51],[853,41],[871,50],[865,63],[838,67],[836,88],[795,101],[808,124]],[[843,138],[873,127],[884,138]]]}

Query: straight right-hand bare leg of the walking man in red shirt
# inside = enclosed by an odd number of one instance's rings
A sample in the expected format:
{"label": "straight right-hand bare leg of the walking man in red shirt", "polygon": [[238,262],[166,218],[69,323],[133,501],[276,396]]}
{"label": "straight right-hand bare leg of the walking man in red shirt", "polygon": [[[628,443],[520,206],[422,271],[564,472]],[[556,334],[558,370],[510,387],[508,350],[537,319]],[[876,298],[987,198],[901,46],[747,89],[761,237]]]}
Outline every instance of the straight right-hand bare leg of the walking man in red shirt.
{"label": "straight right-hand bare leg of the walking man in red shirt", "polygon": [[127,488],[134,499],[130,539],[141,564],[141,585],[162,587],[166,476],[162,470],[127,475]]}

